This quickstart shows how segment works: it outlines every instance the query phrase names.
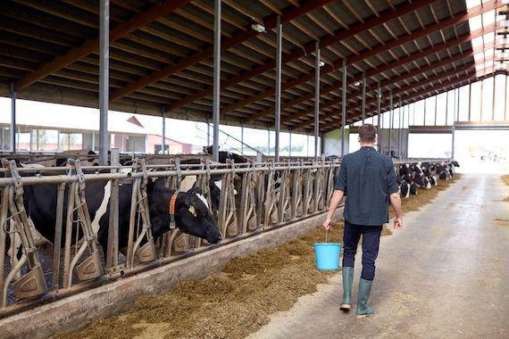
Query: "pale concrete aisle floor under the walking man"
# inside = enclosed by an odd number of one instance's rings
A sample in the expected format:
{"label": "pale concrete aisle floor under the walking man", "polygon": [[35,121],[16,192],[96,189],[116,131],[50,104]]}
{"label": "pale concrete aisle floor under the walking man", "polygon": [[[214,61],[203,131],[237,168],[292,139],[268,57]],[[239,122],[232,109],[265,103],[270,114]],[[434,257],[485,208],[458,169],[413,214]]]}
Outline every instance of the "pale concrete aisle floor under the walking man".
{"label": "pale concrete aisle floor under the walking man", "polygon": [[463,174],[382,238],[371,318],[338,310],[338,274],[250,338],[509,338],[509,203],[501,202],[509,186],[499,178]]}

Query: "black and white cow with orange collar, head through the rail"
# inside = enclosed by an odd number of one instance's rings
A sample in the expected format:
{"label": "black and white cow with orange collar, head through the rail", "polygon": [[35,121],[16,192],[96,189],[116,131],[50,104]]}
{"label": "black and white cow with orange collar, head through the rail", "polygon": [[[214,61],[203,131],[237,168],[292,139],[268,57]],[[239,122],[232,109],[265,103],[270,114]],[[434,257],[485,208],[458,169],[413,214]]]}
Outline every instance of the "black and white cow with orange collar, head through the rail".
{"label": "black and white cow with orange collar, head through the rail", "polygon": [[[107,251],[109,227],[109,194],[106,186],[109,181],[90,181],[86,186],[86,197],[90,219],[98,225],[97,240]],[[38,232],[54,243],[56,222],[57,189],[54,185],[25,186],[24,201],[29,218]],[[131,183],[119,186],[119,248],[129,242],[129,216],[131,205]],[[148,180],[146,194],[152,234],[155,239],[170,230],[169,206],[175,191]],[[67,214],[67,189],[64,197],[63,215]],[[106,208],[104,208],[106,206]],[[199,187],[188,192],[180,192],[175,202],[176,226],[183,233],[206,239],[211,244],[221,242],[221,232],[209,211],[208,204]],[[96,229],[95,229],[96,231]],[[65,234],[65,222],[63,223]]]}

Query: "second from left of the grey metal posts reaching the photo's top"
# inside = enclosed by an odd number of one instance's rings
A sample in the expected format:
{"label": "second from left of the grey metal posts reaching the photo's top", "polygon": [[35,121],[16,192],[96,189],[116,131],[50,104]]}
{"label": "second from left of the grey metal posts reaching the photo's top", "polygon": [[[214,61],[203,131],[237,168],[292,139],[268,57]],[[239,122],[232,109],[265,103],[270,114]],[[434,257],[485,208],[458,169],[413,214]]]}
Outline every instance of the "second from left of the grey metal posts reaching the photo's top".
{"label": "second from left of the grey metal posts reaching the photo's top", "polygon": [[221,0],[214,0],[213,17],[213,160],[219,161],[221,82]]}

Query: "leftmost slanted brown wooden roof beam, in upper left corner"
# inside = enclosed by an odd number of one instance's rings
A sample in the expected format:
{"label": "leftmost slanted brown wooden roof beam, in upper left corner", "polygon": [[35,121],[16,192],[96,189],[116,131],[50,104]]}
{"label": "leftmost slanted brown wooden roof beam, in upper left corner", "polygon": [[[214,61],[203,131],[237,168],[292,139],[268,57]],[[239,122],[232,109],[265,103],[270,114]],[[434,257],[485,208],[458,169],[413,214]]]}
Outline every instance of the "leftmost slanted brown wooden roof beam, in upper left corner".
{"label": "leftmost slanted brown wooden roof beam, in upper left corner", "polygon": [[[110,43],[125,37],[129,33],[154,21],[155,19],[172,12],[183,4],[188,4],[190,0],[166,0],[163,4],[154,5],[146,12],[136,14],[128,22],[117,25],[110,31]],[[51,62],[41,64],[38,70],[26,74],[22,79],[14,82],[14,89],[20,91],[25,87],[29,87],[34,82],[46,78],[48,75],[57,70],[63,69],[65,66],[78,61],[84,56],[95,52],[99,48],[99,37],[85,41],[79,47],[71,48],[66,54],[56,56]]]}

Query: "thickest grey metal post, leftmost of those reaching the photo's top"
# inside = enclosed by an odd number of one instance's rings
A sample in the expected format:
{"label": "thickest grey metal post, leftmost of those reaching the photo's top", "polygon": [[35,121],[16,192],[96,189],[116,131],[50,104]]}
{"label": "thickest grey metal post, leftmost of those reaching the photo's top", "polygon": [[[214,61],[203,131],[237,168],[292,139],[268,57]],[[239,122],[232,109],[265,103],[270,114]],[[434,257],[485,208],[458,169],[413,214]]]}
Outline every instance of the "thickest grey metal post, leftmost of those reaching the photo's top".
{"label": "thickest grey metal post, leftmost of those reaching the photo's top", "polygon": [[108,164],[108,99],[110,88],[110,0],[101,0],[99,37],[99,163]]}

